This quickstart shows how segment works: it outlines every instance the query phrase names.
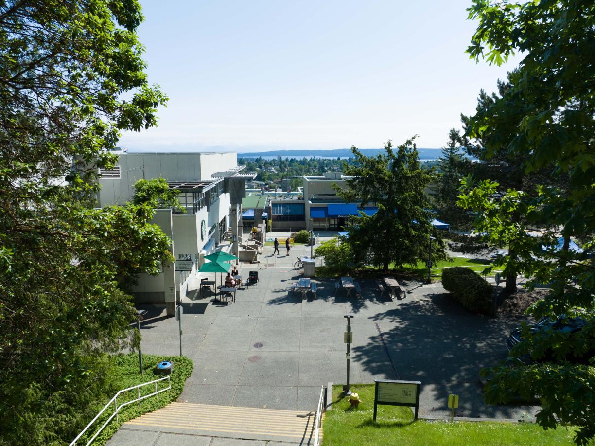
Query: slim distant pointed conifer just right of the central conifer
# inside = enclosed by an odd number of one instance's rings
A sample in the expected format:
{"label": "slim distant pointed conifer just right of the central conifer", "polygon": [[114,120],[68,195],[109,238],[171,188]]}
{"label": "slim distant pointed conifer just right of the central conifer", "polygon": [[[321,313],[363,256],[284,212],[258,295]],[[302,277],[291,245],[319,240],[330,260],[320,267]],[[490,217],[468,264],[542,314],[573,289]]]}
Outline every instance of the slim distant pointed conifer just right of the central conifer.
{"label": "slim distant pointed conifer just right of the central conifer", "polygon": [[460,139],[458,130],[450,129],[449,142],[442,148],[438,160],[439,180],[437,196],[434,197],[434,208],[438,211],[438,216],[456,228],[466,227],[469,223],[468,214],[462,212],[457,204],[461,178],[469,169],[468,160],[459,145]]}

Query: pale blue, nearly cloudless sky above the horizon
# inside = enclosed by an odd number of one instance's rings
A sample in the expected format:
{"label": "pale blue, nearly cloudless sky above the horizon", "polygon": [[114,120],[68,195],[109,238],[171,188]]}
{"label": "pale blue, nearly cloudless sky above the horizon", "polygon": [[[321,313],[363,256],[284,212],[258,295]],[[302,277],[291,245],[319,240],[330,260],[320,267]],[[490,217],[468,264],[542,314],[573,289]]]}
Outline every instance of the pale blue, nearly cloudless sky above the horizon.
{"label": "pale blue, nearly cloudless sky above the horizon", "polygon": [[170,100],[133,150],[439,148],[518,64],[469,59],[471,0],[140,2]]}

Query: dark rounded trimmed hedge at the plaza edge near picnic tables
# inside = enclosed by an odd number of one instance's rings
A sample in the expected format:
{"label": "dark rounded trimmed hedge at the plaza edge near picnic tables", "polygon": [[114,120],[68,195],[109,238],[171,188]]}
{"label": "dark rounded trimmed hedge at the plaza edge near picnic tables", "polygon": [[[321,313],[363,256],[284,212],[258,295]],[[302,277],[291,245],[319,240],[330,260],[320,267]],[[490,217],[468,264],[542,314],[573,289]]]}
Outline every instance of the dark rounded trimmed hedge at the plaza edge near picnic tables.
{"label": "dark rounded trimmed hedge at the plaza edge near picnic tables", "polygon": [[442,286],[469,311],[492,314],[491,285],[476,272],[465,267],[445,268]]}

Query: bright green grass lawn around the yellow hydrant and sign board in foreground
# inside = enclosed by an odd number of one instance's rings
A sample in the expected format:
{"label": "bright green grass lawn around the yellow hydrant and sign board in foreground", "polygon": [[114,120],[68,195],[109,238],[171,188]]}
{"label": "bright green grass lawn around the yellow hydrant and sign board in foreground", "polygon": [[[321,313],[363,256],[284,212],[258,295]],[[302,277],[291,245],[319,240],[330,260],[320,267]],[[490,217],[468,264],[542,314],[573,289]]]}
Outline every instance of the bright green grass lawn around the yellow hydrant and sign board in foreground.
{"label": "bright green grass lawn around the yellow hydrant and sign board in foreground", "polygon": [[[374,384],[351,386],[362,403],[350,408],[333,386],[333,407],[324,418],[323,446],[361,445],[572,445],[574,431],[544,431],[534,423],[414,421],[409,407],[378,406],[374,422]],[[593,442],[590,443],[591,445]]]}

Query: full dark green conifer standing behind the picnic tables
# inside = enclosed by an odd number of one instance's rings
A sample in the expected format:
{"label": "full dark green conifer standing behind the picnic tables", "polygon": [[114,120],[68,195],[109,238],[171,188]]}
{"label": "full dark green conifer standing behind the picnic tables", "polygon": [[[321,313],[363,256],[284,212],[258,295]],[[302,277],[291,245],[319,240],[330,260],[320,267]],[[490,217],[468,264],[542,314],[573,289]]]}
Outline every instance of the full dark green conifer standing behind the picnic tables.
{"label": "full dark green conifer standing behind the picnic tables", "polygon": [[[430,251],[434,260],[446,258],[444,246],[431,226],[424,189],[432,173],[419,168],[414,139],[393,150],[391,141],[384,145],[384,154],[366,157],[353,146],[353,164],[345,165],[346,188],[336,188],[337,195],[347,202],[362,206],[377,204],[374,216],[356,217],[349,227],[347,243],[356,261],[368,261],[383,270],[390,263],[402,266],[427,260]],[[431,242],[430,235],[436,240]]]}

